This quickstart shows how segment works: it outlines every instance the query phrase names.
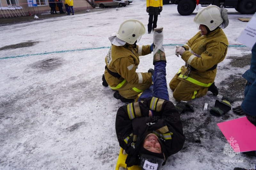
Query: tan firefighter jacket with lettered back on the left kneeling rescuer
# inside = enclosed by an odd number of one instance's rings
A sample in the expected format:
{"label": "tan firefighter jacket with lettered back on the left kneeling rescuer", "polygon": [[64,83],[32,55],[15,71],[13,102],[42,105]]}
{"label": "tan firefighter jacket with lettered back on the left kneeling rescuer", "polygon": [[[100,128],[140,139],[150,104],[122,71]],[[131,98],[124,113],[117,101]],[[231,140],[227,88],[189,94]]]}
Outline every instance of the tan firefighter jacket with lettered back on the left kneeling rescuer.
{"label": "tan firefighter jacket with lettered back on the left kneeling rescuer", "polygon": [[151,73],[137,73],[136,68],[140,63],[139,56],[150,54],[150,45],[136,46],[133,48],[131,44],[124,46],[111,45],[105,62],[108,69],[121,75],[121,78],[116,78],[105,70],[105,79],[111,89],[118,89],[127,82],[130,84],[140,84],[152,82]]}

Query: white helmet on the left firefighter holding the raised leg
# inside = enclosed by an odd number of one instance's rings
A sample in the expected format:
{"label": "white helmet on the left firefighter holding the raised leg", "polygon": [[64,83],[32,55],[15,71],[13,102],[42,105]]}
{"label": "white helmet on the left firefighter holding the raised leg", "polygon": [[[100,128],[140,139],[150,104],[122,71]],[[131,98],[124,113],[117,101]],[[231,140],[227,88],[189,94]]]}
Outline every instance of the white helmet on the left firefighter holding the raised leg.
{"label": "white helmet on the left firefighter holding the raised leg", "polygon": [[137,19],[127,19],[119,27],[116,37],[128,44],[139,42],[141,36],[146,33],[145,26]]}

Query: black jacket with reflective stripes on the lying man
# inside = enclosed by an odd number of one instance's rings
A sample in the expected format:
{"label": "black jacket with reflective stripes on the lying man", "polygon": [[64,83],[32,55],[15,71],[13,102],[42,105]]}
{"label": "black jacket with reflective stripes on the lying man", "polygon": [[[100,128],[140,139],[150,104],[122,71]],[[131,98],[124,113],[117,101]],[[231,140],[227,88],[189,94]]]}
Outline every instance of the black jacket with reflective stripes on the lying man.
{"label": "black jacket with reflective stripes on the lying man", "polygon": [[[150,117],[149,108],[153,110]],[[166,159],[182,149],[185,136],[180,115],[171,101],[151,97],[143,103],[133,102],[118,109],[116,136],[119,145],[128,154],[125,161],[128,167],[138,165],[139,150],[148,133],[154,133],[161,139]]]}

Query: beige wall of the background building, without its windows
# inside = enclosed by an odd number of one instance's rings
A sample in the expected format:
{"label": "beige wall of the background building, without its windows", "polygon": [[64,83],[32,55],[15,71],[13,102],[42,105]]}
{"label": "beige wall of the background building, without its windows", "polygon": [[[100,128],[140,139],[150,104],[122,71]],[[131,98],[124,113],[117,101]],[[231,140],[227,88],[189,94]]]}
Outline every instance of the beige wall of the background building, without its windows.
{"label": "beige wall of the background building, without its windows", "polygon": [[[49,3],[47,1],[46,5],[40,5],[36,7],[28,7],[28,1],[27,0],[16,0],[16,6],[10,6],[7,5],[8,0],[0,0],[0,8],[4,7],[9,7],[9,9],[0,9],[0,18],[4,17],[16,17],[16,16],[23,16],[23,15],[29,15],[28,11],[30,12],[31,15],[33,14],[40,14],[44,13],[51,10],[49,7]],[[64,0],[63,2],[63,11],[65,11],[65,6],[64,6]],[[74,1],[74,10],[87,10],[87,9],[93,9],[92,5],[89,4],[86,0],[73,0]],[[36,2],[36,0],[34,0]],[[30,5],[31,6],[31,5]],[[11,9],[11,7],[22,7],[23,9]],[[56,6],[57,7],[57,6]],[[57,10],[58,11],[58,10]]]}

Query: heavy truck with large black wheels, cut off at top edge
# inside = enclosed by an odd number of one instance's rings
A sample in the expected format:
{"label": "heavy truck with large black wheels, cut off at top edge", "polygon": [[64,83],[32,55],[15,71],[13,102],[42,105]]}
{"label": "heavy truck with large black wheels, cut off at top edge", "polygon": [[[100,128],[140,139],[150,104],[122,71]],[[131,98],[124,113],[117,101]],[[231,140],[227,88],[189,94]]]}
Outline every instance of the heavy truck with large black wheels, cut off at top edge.
{"label": "heavy truck with large black wheels, cut off at top edge", "polygon": [[177,4],[180,15],[190,15],[196,5],[216,5],[224,8],[235,8],[241,14],[253,14],[256,12],[256,0],[163,0],[163,4]]}

